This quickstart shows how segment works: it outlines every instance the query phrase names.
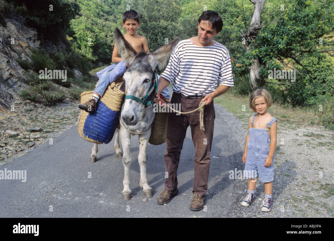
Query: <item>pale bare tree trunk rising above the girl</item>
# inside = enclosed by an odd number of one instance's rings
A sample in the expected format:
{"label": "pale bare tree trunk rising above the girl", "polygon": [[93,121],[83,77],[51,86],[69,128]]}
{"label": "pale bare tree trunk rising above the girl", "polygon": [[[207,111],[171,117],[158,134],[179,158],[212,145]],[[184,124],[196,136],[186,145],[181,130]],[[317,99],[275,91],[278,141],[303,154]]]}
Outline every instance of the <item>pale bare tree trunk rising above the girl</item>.
{"label": "pale bare tree trunk rising above the girl", "polygon": [[[266,3],[266,0],[249,0],[254,4],[254,14],[252,17],[251,24],[249,25],[247,29],[247,33],[245,36],[245,48],[246,51],[249,51],[249,44],[251,41],[257,36],[259,30],[260,30],[260,16],[262,13],[263,6]],[[245,21],[245,20],[244,20]],[[263,78],[260,75],[260,63],[259,59],[253,59],[254,64],[249,68],[249,83],[251,83],[251,86],[253,88],[257,88],[260,81],[263,80]]]}

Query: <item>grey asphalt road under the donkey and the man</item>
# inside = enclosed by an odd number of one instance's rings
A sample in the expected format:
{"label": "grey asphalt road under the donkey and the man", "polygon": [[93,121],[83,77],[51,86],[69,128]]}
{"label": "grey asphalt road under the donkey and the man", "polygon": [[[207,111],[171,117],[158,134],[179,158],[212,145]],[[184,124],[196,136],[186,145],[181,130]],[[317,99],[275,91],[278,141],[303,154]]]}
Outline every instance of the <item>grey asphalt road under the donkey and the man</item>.
{"label": "grey asphalt road under the donkey and the man", "polygon": [[0,180],[0,217],[229,217],[244,195],[237,186],[240,182],[230,180],[228,171],[242,169],[246,133],[240,139],[239,120],[220,106],[215,105],[215,111],[208,194],[202,211],[189,209],[194,158],[190,128],[178,168],[179,194],[167,205],[158,205],[165,179],[165,144],[148,146],[147,179],[154,196],[146,198],[139,187],[138,136],[132,137],[133,197],[124,201],[124,167],[116,157],[114,140],[99,145],[97,162],[91,163],[93,144],[81,139],[73,126],[53,139],[53,145],[45,143],[0,167],[27,173],[26,182]]}

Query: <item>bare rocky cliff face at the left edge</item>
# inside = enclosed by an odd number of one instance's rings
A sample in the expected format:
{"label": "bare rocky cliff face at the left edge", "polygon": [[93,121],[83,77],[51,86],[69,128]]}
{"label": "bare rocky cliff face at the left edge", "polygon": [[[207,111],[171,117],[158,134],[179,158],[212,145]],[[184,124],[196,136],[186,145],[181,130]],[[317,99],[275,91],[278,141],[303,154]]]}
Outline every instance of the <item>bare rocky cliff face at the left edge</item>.
{"label": "bare rocky cliff face at the left edge", "polygon": [[0,116],[8,113],[5,108],[9,109],[20,91],[28,87],[23,83],[25,71],[16,60],[30,60],[31,50],[39,44],[33,28],[9,19],[6,27],[0,25]]}

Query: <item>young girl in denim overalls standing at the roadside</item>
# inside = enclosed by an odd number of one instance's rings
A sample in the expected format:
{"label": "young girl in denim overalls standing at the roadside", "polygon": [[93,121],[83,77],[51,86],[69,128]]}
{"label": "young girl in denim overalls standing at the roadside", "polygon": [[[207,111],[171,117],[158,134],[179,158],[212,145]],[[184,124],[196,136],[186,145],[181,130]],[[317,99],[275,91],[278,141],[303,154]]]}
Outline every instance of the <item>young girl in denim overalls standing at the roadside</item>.
{"label": "young girl in denim overalls standing at the roadside", "polygon": [[272,207],[274,180],[274,154],[276,148],[277,120],[267,112],[272,98],[265,89],[254,91],[249,99],[249,107],[256,112],[248,121],[248,134],[242,161],[245,162],[244,176],[248,180],[248,194],[241,202],[248,207],[253,201],[257,176],[265,183],[265,199],[261,211],[269,212]]}

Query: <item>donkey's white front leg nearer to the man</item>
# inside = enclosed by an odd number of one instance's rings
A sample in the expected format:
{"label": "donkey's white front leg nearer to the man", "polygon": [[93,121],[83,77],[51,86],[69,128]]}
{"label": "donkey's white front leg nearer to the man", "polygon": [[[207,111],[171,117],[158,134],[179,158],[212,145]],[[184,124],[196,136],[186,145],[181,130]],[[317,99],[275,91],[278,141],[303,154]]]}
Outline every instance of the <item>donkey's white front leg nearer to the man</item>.
{"label": "donkey's white front leg nearer to the man", "polygon": [[138,162],[140,165],[140,187],[143,187],[144,195],[148,198],[153,196],[152,188],[148,186],[146,179],[146,162],[147,162],[147,144],[150,138],[151,130],[139,135],[139,155]]}

